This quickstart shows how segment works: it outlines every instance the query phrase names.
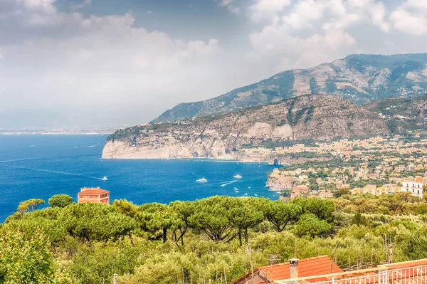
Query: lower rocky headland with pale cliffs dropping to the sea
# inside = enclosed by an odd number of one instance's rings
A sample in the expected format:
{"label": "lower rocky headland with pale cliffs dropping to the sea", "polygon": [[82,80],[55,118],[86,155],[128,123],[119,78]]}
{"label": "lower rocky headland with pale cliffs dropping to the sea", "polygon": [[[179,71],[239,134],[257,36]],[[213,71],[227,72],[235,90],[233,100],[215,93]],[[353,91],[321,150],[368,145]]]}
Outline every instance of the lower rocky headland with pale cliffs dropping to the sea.
{"label": "lower rocky headland with pale cliffs dropping to the sea", "polygon": [[374,112],[337,95],[303,95],[226,115],[118,130],[107,138],[102,157],[241,159],[242,149],[267,141],[388,133],[386,122]]}

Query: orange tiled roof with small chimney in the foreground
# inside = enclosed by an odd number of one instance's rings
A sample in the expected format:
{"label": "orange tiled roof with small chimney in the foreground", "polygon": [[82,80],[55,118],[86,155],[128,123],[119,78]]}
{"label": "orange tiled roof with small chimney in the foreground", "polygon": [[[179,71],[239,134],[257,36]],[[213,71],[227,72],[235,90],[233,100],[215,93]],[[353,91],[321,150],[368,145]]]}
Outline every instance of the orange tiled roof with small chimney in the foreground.
{"label": "orange tiled roof with small chimney in the foreground", "polygon": [[[252,273],[244,275],[233,284],[264,284],[275,280],[300,278],[308,276],[342,273],[343,270],[335,264],[329,256],[317,256],[298,260],[292,258],[287,263],[261,266]],[[321,281],[323,278],[311,279],[308,282]]]}

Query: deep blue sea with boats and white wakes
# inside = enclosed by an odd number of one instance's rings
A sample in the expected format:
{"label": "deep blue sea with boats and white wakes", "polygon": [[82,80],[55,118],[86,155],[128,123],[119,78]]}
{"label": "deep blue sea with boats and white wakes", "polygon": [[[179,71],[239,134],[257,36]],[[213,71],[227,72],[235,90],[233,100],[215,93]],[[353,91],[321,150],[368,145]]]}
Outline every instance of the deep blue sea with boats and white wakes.
{"label": "deep blue sea with boats and white wakes", "polygon": [[[265,196],[274,166],[207,159],[101,159],[104,135],[0,135],[0,222],[21,201],[55,194],[77,199],[84,186],[110,191],[110,200],[169,203],[212,195]],[[234,179],[240,174],[242,179]],[[102,180],[107,177],[107,180]],[[206,178],[201,184],[197,179]]]}

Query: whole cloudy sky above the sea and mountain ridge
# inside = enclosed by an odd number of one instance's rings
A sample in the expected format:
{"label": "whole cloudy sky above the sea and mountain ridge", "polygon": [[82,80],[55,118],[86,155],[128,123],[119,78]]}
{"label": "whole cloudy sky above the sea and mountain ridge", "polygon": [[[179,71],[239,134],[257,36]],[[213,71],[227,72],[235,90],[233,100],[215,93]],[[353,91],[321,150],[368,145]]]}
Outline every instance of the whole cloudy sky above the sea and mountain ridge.
{"label": "whole cloudy sky above the sea and mountain ridge", "polygon": [[426,46],[424,0],[0,0],[0,128],[137,125],[283,70]]}

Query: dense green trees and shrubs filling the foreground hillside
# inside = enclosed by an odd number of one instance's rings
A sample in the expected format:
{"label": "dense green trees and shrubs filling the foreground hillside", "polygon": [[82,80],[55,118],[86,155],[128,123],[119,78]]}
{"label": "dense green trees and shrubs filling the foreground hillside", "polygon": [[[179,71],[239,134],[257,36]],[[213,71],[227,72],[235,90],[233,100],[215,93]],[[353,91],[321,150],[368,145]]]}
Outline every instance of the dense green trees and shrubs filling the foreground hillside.
{"label": "dense green trees and shrubs filling the foreground hillside", "polygon": [[111,283],[114,273],[142,283],[230,282],[251,262],[287,261],[295,248],[298,258],[335,254],[342,267],[427,257],[427,203],[408,194],[38,204],[24,201],[0,224],[1,284]]}

